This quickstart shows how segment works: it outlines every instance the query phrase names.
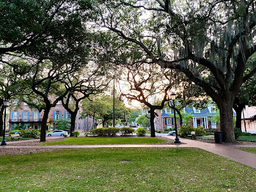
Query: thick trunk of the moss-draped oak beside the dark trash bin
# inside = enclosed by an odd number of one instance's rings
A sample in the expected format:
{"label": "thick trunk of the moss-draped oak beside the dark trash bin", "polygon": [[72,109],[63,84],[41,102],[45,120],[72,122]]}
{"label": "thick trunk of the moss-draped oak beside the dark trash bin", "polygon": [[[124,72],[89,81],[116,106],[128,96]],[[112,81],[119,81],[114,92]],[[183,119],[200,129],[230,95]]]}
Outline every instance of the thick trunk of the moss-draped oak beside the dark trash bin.
{"label": "thick trunk of the moss-draped oak beside the dark trash bin", "polygon": [[218,104],[220,109],[220,129],[222,131],[222,140],[227,143],[236,141],[233,123],[233,102],[229,99],[221,99]]}

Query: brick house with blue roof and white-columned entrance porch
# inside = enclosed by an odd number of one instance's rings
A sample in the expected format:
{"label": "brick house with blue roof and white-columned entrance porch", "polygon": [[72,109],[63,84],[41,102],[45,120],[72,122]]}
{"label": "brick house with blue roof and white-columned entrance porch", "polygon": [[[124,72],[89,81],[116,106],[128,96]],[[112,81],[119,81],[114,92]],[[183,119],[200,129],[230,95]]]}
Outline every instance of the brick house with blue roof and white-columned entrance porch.
{"label": "brick house with blue roof and white-columned entrance porch", "polygon": [[[205,109],[189,108],[186,106],[184,111],[193,115],[193,118],[191,118],[191,121],[188,123],[189,125],[193,127],[201,126],[205,129],[220,129],[220,125],[209,119],[213,115],[216,115],[216,108],[214,106],[209,105]],[[158,111],[158,116],[155,118],[155,127],[157,130],[163,131],[164,129],[175,128],[174,118],[170,116],[172,113],[173,110],[170,108],[165,108],[161,111]],[[177,128],[179,129],[179,127],[180,123],[177,121]]]}

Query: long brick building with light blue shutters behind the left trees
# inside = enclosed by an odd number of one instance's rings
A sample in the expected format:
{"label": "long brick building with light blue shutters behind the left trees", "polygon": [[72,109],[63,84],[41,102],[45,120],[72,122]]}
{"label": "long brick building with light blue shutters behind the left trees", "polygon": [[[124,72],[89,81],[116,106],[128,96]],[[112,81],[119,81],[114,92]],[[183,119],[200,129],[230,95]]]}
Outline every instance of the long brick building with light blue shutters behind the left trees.
{"label": "long brick building with light blue shutters behind the left trees", "polygon": [[[50,97],[51,98],[51,97]],[[13,125],[27,125],[27,128],[40,129],[42,124],[42,118],[44,110],[39,113],[36,109],[29,108],[28,104],[23,102],[19,108],[16,108],[17,100],[14,101],[13,107],[10,109],[9,116],[9,131],[13,130]],[[79,110],[76,116],[75,130],[80,132],[89,131],[92,129],[92,118],[86,116],[86,118],[79,118],[81,111]],[[55,122],[58,118],[70,118],[70,113],[62,106],[61,101],[51,108],[47,119],[46,129],[58,129],[58,124]]]}

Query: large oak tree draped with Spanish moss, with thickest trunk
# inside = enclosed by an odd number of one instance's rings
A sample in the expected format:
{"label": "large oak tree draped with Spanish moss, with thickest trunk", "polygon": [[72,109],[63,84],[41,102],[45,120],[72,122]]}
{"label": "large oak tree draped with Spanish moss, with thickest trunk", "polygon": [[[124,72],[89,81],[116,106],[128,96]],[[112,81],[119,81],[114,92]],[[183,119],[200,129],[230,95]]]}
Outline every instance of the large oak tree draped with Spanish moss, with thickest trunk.
{"label": "large oak tree draped with Spanish moss, with thickest trunk", "polygon": [[223,141],[234,142],[234,99],[256,72],[254,65],[244,75],[246,61],[256,51],[255,1],[97,3],[98,26],[138,46],[144,61],[179,70],[204,89],[220,109]]}

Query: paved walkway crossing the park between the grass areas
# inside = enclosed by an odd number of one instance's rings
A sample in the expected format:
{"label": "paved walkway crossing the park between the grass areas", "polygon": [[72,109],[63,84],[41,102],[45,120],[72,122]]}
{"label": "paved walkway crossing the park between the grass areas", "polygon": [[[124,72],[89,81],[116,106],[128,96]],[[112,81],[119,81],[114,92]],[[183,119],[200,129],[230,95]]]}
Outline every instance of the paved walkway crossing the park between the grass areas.
{"label": "paved walkway crossing the park between the grass areas", "polygon": [[[172,138],[173,136],[163,136],[166,138]],[[51,140],[55,137],[47,137],[47,140]],[[26,140],[28,142],[29,140]],[[32,141],[32,140],[31,140]],[[35,140],[33,140],[35,141]],[[252,154],[249,152],[244,152],[243,150],[237,149],[243,147],[255,147],[256,145],[230,145],[225,143],[204,143],[202,141],[189,140],[180,138],[182,144],[177,145],[47,145],[47,146],[12,146],[8,145],[1,146],[1,148],[137,148],[137,147],[156,147],[156,148],[201,148],[202,150],[206,150],[211,152],[212,154],[216,154],[218,156],[226,157],[228,159],[232,159],[238,163],[248,165],[252,168],[256,169],[256,154]],[[12,141],[13,142],[25,142],[25,141]]]}

